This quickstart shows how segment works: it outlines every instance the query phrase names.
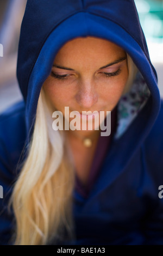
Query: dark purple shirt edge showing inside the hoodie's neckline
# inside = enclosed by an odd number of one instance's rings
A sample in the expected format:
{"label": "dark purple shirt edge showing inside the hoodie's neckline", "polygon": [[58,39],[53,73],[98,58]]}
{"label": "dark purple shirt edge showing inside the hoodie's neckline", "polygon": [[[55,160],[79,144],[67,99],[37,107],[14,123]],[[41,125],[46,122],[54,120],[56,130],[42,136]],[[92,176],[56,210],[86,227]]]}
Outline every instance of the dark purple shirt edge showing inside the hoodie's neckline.
{"label": "dark purple shirt edge showing inside the hoodie's neckline", "polygon": [[[106,120],[106,119],[105,119]],[[102,163],[105,159],[106,153],[108,152],[111,144],[112,137],[116,130],[117,124],[117,108],[115,107],[114,110],[111,112],[111,133],[110,136],[99,136],[97,147],[95,150],[95,155],[93,156],[93,161],[91,164],[91,169],[89,172],[89,178],[87,181],[87,185],[84,186],[82,182],[80,182],[78,176],[76,175],[76,184],[75,189],[77,192],[86,198],[91,191],[93,184],[95,183],[96,179],[101,170]],[[106,121],[105,121],[106,125]]]}

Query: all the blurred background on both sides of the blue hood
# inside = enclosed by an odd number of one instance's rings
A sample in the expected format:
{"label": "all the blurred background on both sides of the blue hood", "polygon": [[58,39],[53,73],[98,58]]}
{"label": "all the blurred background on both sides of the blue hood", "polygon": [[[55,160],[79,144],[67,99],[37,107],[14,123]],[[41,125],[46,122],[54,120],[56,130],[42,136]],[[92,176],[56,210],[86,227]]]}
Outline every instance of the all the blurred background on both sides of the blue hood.
{"label": "all the blurred background on both sides of the blue hood", "polygon": [[[26,3],[27,0],[0,1],[0,43],[3,45],[3,57],[0,57],[0,112],[22,99],[16,79],[16,62]],[[135,0],[135,4],[163,98],[163,0]]]}

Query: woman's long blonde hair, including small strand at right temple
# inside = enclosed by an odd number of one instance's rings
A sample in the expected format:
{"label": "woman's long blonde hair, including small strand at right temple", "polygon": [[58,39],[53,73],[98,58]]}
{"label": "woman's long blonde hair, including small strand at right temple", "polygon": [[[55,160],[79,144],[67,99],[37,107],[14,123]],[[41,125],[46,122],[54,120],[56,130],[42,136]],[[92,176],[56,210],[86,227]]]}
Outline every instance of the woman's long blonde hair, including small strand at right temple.
{"label": "woman's long blonde hair, including small strand at right temple", "polygon": [[[136,67],[128,56],[129,78]],[[125,92],[124,92],[125,93]],[[52,109],[41,89],[33,138],[11,197],[15,218],[15,245],[46,245],[73,238],[72,192],[74,167],[68,157],[64,131],[52,129]]]}

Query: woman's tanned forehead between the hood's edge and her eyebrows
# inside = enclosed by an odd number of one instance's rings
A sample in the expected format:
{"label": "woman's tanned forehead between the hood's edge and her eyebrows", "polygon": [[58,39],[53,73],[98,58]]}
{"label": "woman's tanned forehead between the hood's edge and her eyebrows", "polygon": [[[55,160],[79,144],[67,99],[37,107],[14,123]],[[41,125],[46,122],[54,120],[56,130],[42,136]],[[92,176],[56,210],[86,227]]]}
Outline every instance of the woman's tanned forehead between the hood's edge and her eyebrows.
{"label": "woman's tanned forehead between the hood's edge and her eyebrows", "polygon": [[126,52],[111,41],[88,36],[66,42],[58,51],[54,63],[69,66],[82,65],[83,62],[104,65],[125,55]]}

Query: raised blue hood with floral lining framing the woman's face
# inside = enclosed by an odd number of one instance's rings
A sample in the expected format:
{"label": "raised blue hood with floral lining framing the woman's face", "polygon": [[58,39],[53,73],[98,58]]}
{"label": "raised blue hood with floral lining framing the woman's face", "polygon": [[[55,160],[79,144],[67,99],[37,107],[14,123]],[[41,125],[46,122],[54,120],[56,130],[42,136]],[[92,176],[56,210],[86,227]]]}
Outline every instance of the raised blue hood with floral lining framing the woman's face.
{"label": "raised blue hood with floral lining framing the woman's face", "polygon": [[27,1],[18,49],[17,78],[26,102],[29,138],[40,90],[51,73],[55,55],[68,40],[79,36],[95,36],[114,42],[130,55],[139,69],[130,92],[118,103],[115,135],[116,141],[120,141],[127,133],[136,149],[152,129],[159,113],[160,95],[133,0]]}

